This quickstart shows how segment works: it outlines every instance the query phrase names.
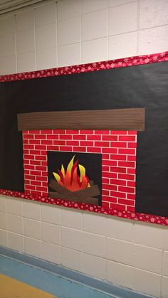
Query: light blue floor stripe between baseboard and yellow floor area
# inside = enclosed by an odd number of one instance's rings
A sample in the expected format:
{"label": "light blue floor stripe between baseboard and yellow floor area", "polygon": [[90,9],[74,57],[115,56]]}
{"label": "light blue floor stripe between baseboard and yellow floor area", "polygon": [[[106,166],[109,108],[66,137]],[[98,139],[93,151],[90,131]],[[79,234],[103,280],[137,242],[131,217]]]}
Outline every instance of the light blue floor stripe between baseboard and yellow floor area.
{"label": "light blue floor stripe between baseboard and yellow floor area", "polygon": [[25,265],[21,262],[0,256],[1,274],[15,278],[33,287],[56,295],[57,298],[112,298],[112,295],[85,287],[53,273],[43,271],[36,267]]}

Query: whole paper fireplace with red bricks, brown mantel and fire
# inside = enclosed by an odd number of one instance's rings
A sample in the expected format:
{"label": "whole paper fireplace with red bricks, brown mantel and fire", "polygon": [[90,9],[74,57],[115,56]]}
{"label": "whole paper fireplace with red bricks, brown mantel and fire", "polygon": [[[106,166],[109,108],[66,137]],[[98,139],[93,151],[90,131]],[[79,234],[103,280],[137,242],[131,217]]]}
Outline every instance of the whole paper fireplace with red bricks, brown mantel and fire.
{"label": "whole paper fireplace with red bricks, brown mantel and fire", "polygon": [[26,193],[135,211],[137,131],[145,109],[18,115]]}

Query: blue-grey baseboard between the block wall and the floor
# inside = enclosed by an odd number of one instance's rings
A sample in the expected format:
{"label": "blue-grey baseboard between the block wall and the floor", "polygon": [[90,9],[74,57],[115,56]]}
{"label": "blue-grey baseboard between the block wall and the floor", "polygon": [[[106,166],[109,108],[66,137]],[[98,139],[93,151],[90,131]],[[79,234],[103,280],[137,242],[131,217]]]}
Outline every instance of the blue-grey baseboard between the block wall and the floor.
{"label": "blue-grey baseboard between the block wall and the floor", "polygon": [[83,273],[70,270],[68,268],[56,265],[46,260],[39,259],[37,257],[33,257],[31,255],[26,255],[16,250],[11,250],[10,248],[4,248],[1,245],[0,245],[0,255],[11,258],[13,260],[17,260],[19,262],[26,263],[27,265],[30,265],[33,267],[38,267],[41,270],[54,273],[68,280],[73,280],[73,282],[84,284],[85,286],[91,287],[93,289],[97,289],[98,291],[104,292],[105,294],[111,294],[112,297],[116,297],[116,298],[147,298],[147,297],[151,298],[152,297],[147,294],[142,294],[140,292],[134,292],[131,289],[118,287],[115,284],[110,284],[103,280],[97,280],[94,277],[84,275]]}

